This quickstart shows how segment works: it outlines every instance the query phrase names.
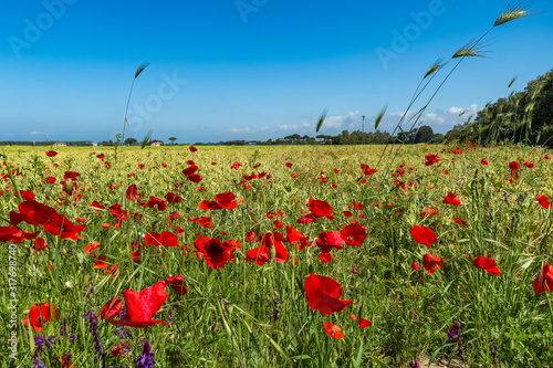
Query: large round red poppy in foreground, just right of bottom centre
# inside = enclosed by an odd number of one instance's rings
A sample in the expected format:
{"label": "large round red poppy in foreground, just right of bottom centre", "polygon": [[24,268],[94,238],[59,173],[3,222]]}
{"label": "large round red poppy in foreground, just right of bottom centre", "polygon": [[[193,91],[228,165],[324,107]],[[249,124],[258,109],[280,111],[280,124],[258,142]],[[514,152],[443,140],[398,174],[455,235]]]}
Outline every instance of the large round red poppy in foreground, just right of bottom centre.
{"label": "large round red poppy in foreground, just right of bottom centre", "polygon": [[311,311],[319,311],[324,315],[342,312],[353,301],[343,301],[342,286],[327,276],[311,274],[304,283],[305,297]]}

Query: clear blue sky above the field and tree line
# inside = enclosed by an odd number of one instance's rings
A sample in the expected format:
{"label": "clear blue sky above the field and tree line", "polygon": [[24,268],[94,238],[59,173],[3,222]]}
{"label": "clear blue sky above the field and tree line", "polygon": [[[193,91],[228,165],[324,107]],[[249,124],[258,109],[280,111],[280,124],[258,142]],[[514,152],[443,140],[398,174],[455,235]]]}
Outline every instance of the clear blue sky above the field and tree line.
{"label": "clear blue sky above the field and tree line", "polygon": [[[392,129],[421,76],[478,38],[503,1],[6,0],[0,6],[0,140],[177,143]],[[436,133],[552,69],[551,1],[494,28],[422,120]],[[450,63],[451,64],[451,63]],[[436,81],[449,72],[448,66]],[[440,77],[441,75],[441,77]],[[430,85],[435,91],[437,85]],[[430,91],[429,90],[429,91]],[[414,106],[418,111],[429,96]],[[459,117],[460,111],[467,113]]]}

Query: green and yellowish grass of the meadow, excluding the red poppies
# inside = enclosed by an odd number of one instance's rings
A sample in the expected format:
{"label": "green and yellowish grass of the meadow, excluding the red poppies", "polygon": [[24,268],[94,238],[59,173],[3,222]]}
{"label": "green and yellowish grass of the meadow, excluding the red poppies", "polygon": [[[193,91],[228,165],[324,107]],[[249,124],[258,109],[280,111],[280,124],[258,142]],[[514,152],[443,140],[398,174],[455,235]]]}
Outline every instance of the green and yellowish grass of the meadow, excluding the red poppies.
{"label": "green and yellowish grass of the meadow, excluding the red poppies", "polygon": [[[169,297],[155,315],[156,319],[168,322],[171,305],[178,303],[170,328],[160,324],[129,328],[133,337],[123,338],[115,326],[98,322],[106,366],[136,366],[143,351],[142,339],[152,344],[159,367],[410,367],[422,357],[461,362],[457,339],[450,341],[447,334],[453,323],[459,323],[466,366],[493,366],[490,354],[493,344],[498,347],[495,359],[501,367],[550,367],[553,297],[551,293],[534,294],[532,283],[543,262],[553,261],[551,210],[543,209],[536,201],[538,194],[550,198],[553,194],[553,161],[543,159],[544,153],[529,147],[463,146],[460,147],[462,154],[458,155],[452,153],[455,147],[446,147],[444,153],[441,148],[403,147],[379,187],[376,187],[377,178],[380,179],[383,172],[365,177],[361,165],[374,167],[384,146],[200,147],[194,154],[187,147],[144,150],[119,147],[117,162],[113,148],[108,147],[56,148],[59,155],[53,158],[46,157],[48,149],[43,148],[2,148],[11,168],[21,172],[14,176],[20,190],[33,191],[38,202],[55,206],[58,212],[73,222],[83,217],[86,224],[76,241],[61,240],[41,231],[39,236],[43,236],[49,246],[44,251],[33,250],[30,240],[18,245],[15,364],[21,367],[34,364],[32,341],[38,333],[21,323],[33,304],[49,302],[58,308],[58,318],[44,323],[41,336],[54,336],[59,344],[40,351],[41,361],[59,367],[55,357],[61,359],[64,353],[70,353],[71,365],[98,367],[102,360],[95,353],[94,335],[88,330],[90,322],[82,316],[91,308],[98,314],[111,298],[122,297],[124,290],[140,291],[168,276],[184,276],[188,294],[178,296],[167,288]],[[112,162],[109,168],[96,158],[100,153]],[[425,155],[438,153],[442,160],[425,166]],[[489,166],[480,164],[484,157]],[[197,185],[181,174],[188,167],[187,160],[194,160],[204,177]],[[513,160],[529,160],[535,166],[529,169],[521,165],[519,179],[511,185],[509,162]],[[212,161],[217,165],[211,165]],[[242,164],[239,170],[232,168],[234,161]],[[54,167],[54,162],[59,166]],[[288,168],[285,162],[293,166]],[[145,168],[140,170],[139,164]],[[253,169],[255,164],[261,166]],[[390,177],[403,164],[406,174]],[[59,182],[69,170],[81,175],[76,180],[77,194],[71,197],[63,194]],[[272,177],[253,179],[246,185],[240,182],[243,175],[261,171]],[[327,182],[321,180],[321,171]],[[7,172],[6,168],[2,172]],[[131,172],[135,176],[129,177]],[[292,178],[292,172],[299,174],[299,178]],[[45,183],[44,179],[50,176],[56,178],[54,185]],[[404,181],[405,190],[394,180]],[[176,188],[180,181],[182,186]],[[12,193],[9,178],[0,183],[3,192],[0,225],[8,227],[9,213],[18,212],[19,199]],[[165,211],[143,208],[136,201],[126,200],[125,191],[132,183],[143,193],[144,201],[150,196],[163,199],[167,192],[178,193],[182,201],[167,204]],[[233,210],[199,209],[202,200],[213,200],[217,193],[228,191],[232,191],[237,200],[243,198],[243,203]],[[448,191],[461,199],[459,207],[442,203]],[[335,219],[299,224],[296,220],[309,211],[310,198],[328,202]],[[104,228],[102,224],[113,224],[115,219],[108,210],[92,210],[90,204],[95,200],[106,208],[121,203],[122,208],[143,218],[123,221],[119,229]],[[354,201],[364,209],[352,209],[348,203]],[[420,212],[432,206],[439,208],[439,215],[421,219]],[[344,217],[342,212],[346,210],[354,217]],[[268,218],[268,212],[276,211],[284,215]],[[170,212],[180,218],[168,220]],[[206,229],[188,220],[201,215],[211,217],[215,227]],[[469,228],[460,228],[452,221],[453,217],[466,220]],[[283,223],[279,230],[273,230],[275,220]],[[285,227],[292,225],[314,242],[319,233],[340,230],[352,220],[366,225],[367,239],[358,248],[344,245],[343,250],[333,250],[334,259],[326,264],[319,259],[319,248],[300,251],[285,242],[289,262],[269,262],[262,266],[246,262],[246,252],[259,245],[244,241],[250,230],[257,235],[278,231],[285,236]],[[415,224],[429,227],[437,234],[438,241],[430,250],[413,240],[409,230]],[[27,231],[41,230],[24,222],[18,227]],[[179,245],[187,244],[188,251],[181,251],[180,246],[146,245],[139,249],[142,260],[132,261],[132,242],[143,243],[143,234],[175,231],[176,227],[184,228]],[[242,250],[234,252],[233,262],[211,270],[192,253],[196,234],[221,241],[234,239]],[[84,248],[93,241],[101,246],[91,256]],[[6,287],[9,242],[1,245],[0,259],[4,266],[0,280],[4,287],[0,288],[0,335],[8,336],[11,332],[6,307],[10,298]],[[425,253],[445,260],[444,267],[434,275],[424,272]],[[488,254],[497,261],[501,275],[476,269],[467,256]],[[108,264],[117,264],[116,277],[106,275],[106,269],[93,269],[93,260],[98,255],[106,255]],[[420,271],[411,269],[413,262],[420,264]],[[52,264],[54,270],[49,267]],[[353,267],[358,267],[358,273],[353,273]],[[353,303],[328,316],[311,311],[304,293],[304,281],[311,273],[337,281],[343,286],[342,298]],[[67,281],[72,287],[65,285]],[[86,298],[91,286],[94,293]],[[275,297],[282,303],[275,303]],[[351,319],[352,314],[369,319],[373,326],[359,329]],[[64,319],[67,333],[61,339]],[[327,336],[325,322],[340,326],[345,338],[337,340]],[[70,341],[67,337],[72,334],[75,339]],[[129,353],[112,357],[112,349],[122,340],[128,345]],[[0,351],[0,366],[14,366],[8,357],[6,339]]]}

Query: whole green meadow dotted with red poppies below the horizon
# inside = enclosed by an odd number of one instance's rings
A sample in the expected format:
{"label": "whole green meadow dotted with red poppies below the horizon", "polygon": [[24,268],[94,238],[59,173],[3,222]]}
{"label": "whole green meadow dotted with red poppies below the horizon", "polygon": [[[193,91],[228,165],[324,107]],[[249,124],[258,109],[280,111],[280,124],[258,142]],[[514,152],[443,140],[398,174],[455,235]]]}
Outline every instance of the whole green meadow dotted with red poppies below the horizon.
{"label": "whole green meadow dotted with red poppies below the horizon", "polygon": [[0,366],[552,367],[553,154],[383,149],[1,148]]}

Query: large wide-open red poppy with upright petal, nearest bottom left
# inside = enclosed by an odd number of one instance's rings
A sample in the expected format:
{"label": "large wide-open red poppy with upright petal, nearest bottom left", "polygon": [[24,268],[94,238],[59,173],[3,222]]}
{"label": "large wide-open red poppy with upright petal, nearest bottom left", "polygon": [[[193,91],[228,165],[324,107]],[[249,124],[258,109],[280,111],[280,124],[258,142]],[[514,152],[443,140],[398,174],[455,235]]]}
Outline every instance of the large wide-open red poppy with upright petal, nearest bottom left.
{"label": "large wide-open red poppy with upright petal, nearest bottom left", "polygon": [[160,281],[154,286],[146,287],[142,292],[124,290],[125,315],[122,319],[109,319],[112,325],[124,325],[129,327],[144,328],[154,324],[169,325],[163,319],[152,319],[167,301],[167,281]]}

